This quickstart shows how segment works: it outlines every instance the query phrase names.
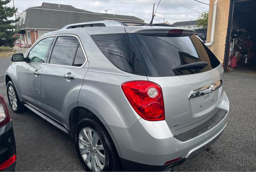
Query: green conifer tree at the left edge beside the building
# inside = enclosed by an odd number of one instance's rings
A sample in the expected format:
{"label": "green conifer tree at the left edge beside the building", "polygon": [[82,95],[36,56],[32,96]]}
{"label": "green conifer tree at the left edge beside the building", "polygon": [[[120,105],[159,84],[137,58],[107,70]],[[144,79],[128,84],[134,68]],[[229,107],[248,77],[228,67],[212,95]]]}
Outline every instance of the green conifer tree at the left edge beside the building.
{"label": "green conifer tree at the left edge beside the building", "polygon": [[5,6],[11,0],[0,0],[0,46],[14,46],[17,37],[14,28],[18,19],[10,19],[17,12],[17,8]]}

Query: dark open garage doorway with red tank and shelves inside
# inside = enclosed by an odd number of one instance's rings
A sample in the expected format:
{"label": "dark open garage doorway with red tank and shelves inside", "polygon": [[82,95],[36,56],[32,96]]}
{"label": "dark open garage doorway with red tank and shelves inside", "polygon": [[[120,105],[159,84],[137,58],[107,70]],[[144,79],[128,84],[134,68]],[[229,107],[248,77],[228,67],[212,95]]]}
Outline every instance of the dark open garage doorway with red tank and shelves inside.
{"label": "dark open garage doorway with red tank and shelves inside", "polygon": [[234,0],[228,71],[256,75],[256,0]]}

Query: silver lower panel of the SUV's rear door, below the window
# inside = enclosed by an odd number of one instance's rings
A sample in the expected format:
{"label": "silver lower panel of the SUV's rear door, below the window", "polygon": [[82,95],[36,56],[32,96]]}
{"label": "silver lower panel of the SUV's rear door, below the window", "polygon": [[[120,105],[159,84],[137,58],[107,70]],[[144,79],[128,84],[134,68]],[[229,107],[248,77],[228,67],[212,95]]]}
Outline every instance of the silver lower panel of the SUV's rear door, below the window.
{"label": "silver lower panel of the SUV's rear door, below the window", "polygon": [[[68,126],[68,115],[77,107],[80,89],[89,63],[82,69],[46,64],[41,73],[41,96],[44,112],[58,122]],[[70,73],[75,79],[65,79]]]}

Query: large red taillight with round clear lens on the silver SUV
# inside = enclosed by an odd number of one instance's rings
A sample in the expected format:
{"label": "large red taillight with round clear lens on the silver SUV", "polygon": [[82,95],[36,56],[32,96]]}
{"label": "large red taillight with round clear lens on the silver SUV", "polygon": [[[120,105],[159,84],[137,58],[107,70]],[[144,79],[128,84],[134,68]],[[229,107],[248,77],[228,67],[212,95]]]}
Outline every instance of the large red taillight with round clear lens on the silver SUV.
{"label": "large red taillight with round clear lens on the silver SUV", "polygon": [[159,85],[150,81],[129,81],[121,87],[140,117],[148,121],[164,120],[164,99]]}

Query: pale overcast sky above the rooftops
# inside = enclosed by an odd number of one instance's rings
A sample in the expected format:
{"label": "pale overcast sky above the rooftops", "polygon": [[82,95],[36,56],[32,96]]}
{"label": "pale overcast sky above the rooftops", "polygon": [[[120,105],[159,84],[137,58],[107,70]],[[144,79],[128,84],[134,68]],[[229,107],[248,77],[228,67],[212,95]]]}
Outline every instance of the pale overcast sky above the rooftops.
{"label": "pale overcast sky above the rooftops", "polygon": [[[200,0],[206,4],[196,2],[194,0],[176,0],[184,6],[191,8],[192,10],[203,12],[209,9],[209,0]],[[162,0],[158,7],[158,13],[171,13],[171,14],[156,14],[153,23],[164,22],[163,18],[168,20],[170,24],[174,22],[182,22],[188,20],[196,20],[200,15],[198,12],[194,12],[175,0]],[[29,7],[41,6],[42,2],[50,2],[56,4],[72,5],[75,8],[80,8],[92,12],[104,13],[104,10],[108,10],[109,14],[123,14],[136,16],[150,22],[152,17],[153,4],[155,3],[155,9],[159,0],[14,0],[15,7],[19,12],[26,10]],[[13,6],[12,1],[8,6]],[[175,13],[175,14],[173,14]],[[179,14],[177,14],[179,13]],[[162,19],[161,19],[162,18]]]}

